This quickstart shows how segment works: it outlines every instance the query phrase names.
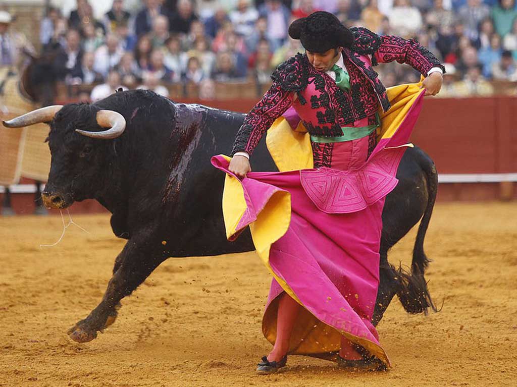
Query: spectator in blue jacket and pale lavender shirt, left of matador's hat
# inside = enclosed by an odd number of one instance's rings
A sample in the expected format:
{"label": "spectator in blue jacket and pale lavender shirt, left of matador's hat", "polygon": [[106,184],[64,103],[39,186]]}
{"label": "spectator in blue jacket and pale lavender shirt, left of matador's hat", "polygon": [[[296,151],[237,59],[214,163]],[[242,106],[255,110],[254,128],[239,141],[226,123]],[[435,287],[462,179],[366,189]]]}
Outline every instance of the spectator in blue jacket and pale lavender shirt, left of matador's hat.
{"label": "spectator in blue jacket and pale lavender shirt, left of matador's hat", "polygon": [[291,10],[280,0],[266,0],[258,8],[258,14],[267,19],[268,37],[273,51],[279,48],[287,38],[287,29],[291,19]]}

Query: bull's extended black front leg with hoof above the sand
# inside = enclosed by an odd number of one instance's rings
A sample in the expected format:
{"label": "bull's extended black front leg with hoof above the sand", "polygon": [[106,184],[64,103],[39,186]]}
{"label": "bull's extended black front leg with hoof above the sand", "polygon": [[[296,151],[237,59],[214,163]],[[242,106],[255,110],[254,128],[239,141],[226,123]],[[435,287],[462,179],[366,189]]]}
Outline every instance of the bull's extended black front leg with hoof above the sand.
{"label": "bull's extended black front leg with hoof above the sand", "polygon": [[88,317],[68,330],[70,338],[79,343],[96,338],[98,331],[115,321],[120,300],[129,296],[164,259],[162,251],[151,248],[151,243],[129,240],[115,260],[102,301]]}

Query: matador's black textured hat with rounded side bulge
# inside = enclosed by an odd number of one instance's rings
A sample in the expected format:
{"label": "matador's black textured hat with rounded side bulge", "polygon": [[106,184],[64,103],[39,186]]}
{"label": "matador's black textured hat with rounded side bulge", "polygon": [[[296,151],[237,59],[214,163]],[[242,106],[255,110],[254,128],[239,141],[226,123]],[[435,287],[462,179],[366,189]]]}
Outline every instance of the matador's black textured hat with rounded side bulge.
{"label": "matador's black textured hat with rounded side bulge", "polygon": [[289,36],[299,39],[310,52],[326,52],[338,47],[352,47],[354,37],[332,13],[317,11],[289,26]]}

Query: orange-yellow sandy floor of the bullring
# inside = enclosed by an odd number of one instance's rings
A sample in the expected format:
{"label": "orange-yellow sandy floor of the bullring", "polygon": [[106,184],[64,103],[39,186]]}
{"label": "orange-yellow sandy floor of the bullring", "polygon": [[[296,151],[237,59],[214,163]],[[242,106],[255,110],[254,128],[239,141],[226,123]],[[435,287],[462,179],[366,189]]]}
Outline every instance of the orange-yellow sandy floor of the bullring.
{"label": "orange-yellow sandy floor of the bullring", "polygon": [[[169,259],[126,300],[115,324],[77,344],[66,330],[97,305],[124,244],[108,215],[0,218],[2,386],[517,386],[517,204],[439,204],[425,244],[442,312],[379,324],[388,373],[291,357],[257,376],[269,275],[254,253]],[[391,262],[407,264],[414,232]]]}

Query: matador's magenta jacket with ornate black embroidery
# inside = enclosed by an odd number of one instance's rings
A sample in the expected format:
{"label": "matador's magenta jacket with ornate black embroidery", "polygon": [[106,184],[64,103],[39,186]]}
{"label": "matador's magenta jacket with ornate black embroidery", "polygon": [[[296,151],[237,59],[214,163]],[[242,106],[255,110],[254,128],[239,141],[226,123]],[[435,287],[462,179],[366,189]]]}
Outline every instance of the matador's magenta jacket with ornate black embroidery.
{"label": "matador's magenta jacket with ornate black embroidery", "polygon": [[[350,76],[349,92],[342,91],[326,73],[317,71],[305,54],[296,54],[271,75],[271,87],[237,133],[232,156],[238,151],[251,154],[273,121],[291,105],[310,134],[331,137],[342,135],[341,127],[373,117],[379,103],[387,111],[390,103],[386,88],[373,69],[377,63],[397,60],[424,76],[433,67],[445,71],[438,59],[413,39],[378,36],[363,27],[352,27],[351,31],[355,45],[343,49],[343,61]],[[323,159],[330,159],[332,146],[332,143],[313,144],[315,167],[327,164]]]}

